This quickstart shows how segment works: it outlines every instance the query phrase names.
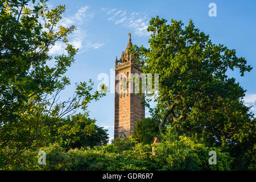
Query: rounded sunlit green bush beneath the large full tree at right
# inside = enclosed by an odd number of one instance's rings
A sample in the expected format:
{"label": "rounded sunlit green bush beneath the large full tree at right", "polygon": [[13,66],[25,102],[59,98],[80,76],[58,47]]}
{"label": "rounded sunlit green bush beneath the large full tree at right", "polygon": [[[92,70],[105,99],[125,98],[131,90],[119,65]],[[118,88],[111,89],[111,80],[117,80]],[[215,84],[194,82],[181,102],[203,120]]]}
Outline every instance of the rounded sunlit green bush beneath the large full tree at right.
{"label": "rounded sunlit green bush beneath the large full tree at right", "polygon": [[[155,147],[155,161],[160,164],[159,170],[230,170],[233,159],[221,148],[205,146],[191,138],[177,138],[171,127],[168,127],[164,142],[152,144]],[[209,152],[217,153],[217,164],[210,165]]]}

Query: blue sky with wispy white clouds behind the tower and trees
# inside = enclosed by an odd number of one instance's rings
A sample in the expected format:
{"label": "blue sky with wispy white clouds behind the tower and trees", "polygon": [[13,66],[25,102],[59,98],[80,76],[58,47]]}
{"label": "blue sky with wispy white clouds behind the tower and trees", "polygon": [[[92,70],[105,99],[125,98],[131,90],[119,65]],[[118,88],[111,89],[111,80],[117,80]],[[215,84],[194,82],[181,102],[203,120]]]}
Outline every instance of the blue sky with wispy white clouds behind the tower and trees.
{"label": "blue sky with wispy white clouds behind the tower and trees", "polygon": [[[210,17],[209,3],[216,3],[217,16]],[[115,56],[125,51],[131,32],[133,44],[148,46],[150,34],[146,31],[151,17],[182,20],[185,25],[192,19],[200,31],[209,34],[215,44],[224,44],[236,49],[238,56],[246,58],[254,69],[241,77],[238,71],[229,72],[230,77],[247,90],[245,104],[254,105],[256,101],[256,1],[84,1],[54,0],[49,7],[66,5],[61,24],[77,26],[69,41],[80,48],[76,63],[69,68],[67,76],[71,86],[62,93],[63,99],[72,96],[75,83],[90,78],[97,86],[100,73],[106,73],[110,79],[110,69],[114,69]],[[63,46],[57,44],[51,54],[63,52]],[[110,80],[109,80],[110,82]],[[110,93],[100,101],[89,106],[90,117],[97,119],[98,126],[109,130],[114,136],[114,94]],[[251,109],[256,113],[256,107]],[[146,109],[147,111],[147,109]],[[148,113],[146,112],[146,115]]]}

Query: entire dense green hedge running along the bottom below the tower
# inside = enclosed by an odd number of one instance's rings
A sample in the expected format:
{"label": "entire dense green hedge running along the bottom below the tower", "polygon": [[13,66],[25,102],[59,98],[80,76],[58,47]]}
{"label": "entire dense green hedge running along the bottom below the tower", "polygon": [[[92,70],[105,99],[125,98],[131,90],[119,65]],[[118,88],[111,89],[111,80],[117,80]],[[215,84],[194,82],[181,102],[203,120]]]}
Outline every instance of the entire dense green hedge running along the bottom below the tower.
{"label": "entire dense green hedge running along the bottom below the tower", "polygon": [[[152,146],[155,155],[152,155]],[[26,164],[10,169],[25,170],[230,170],[232,158],[220,148],[208,148],[187,137],[166,139],[152,145],[137,143],[122,151],[114,144],[104,147],[65,151],[59,144],[42,148],[46,165],[38,164],[37,154],[27,158]],[[216,151],[217,164],[208,163],[209,151]]]}

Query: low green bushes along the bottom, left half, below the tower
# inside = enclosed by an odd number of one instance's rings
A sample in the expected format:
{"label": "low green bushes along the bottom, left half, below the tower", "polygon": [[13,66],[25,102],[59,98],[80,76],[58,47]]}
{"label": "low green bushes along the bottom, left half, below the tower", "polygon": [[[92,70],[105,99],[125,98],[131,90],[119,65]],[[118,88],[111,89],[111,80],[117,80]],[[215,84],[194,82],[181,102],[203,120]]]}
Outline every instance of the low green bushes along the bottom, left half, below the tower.
{"label": "low green bushes along the bottom, left half, below the tower", "polygon": [[88,171],[121,171],[121,170],[148,170],[148,160],[139,160],[138,156],[118,154],[117,147],[108,144],[104,147],[78,148],[65,152],[59,144],[42,149],[46,152],[46,165],[38,165],[35,157],[36,168],[28,170],[88,170]]}

